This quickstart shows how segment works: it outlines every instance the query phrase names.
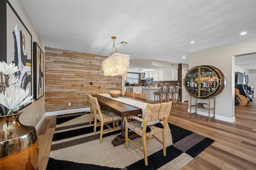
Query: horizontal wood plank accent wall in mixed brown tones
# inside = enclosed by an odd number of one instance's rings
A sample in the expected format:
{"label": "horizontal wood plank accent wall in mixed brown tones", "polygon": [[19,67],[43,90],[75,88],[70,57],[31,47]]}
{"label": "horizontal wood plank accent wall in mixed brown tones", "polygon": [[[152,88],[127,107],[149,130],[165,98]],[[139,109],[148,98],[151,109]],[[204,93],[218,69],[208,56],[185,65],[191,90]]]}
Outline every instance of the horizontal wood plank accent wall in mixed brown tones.
{"label": "horizontal wood plank accent wall in mixed brown tones", "polygon": [[101,61],[105,58],[45,47],[45,111],[89,107],[86,93],[92,94],[93,90],[99,89],[107,93],[109,90],[122,90],[122,76],[103,76]]}

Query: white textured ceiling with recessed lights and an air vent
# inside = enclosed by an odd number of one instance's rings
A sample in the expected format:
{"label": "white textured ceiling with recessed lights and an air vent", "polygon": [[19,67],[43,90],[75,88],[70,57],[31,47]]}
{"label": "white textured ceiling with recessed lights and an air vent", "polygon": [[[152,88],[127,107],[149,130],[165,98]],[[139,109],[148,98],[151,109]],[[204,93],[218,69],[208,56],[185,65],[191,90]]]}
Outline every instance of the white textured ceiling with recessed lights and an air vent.
{"label": "white textured ceiling with recessed lights and an air vent", "polygon": [[188,64],[190,52],[256,37],[255,0],[21,2],[46,47],[97,55],[109,56],[116,36],[131,59]]}

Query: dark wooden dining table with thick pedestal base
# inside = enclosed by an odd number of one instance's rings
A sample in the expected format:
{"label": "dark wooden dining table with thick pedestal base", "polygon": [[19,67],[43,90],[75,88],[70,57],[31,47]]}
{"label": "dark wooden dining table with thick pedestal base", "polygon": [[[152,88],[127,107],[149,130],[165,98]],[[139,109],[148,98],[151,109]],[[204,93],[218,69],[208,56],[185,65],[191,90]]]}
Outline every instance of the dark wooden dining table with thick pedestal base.
{"label": "dark wooden dining table with thick pedestal base", "polygon": [[[98,100],[98,103],[100,106],[112,111],[116,115],[122,117],[121,121],[121,130],[122,134],[119,134],[112,140],[112,144],[114,146],[118,146],[120,144],[123,144],[125,142],[125,122],[124,119],[129,116],[134,116],[134,115],[139,115],[142,114],[142,110],[138,107],[134,107],[116,100],[112,100],[108,97],[103,97],[101,95],[93,94],[93,97],[96,97]],[[160,101],[151,101],[151,100],[146,100],[146,99],[139,99],[139,98],[134,98],[134,97],[129,97],[125,95],[120,95],[120,97],[124,97],[127,99],[133,99],[136,101],[142,101],[144,103],[149,103],[149,104],[155,104],[155,103],[160,103]],[[134,132],[129,132],[128,134],[130,139],[134,139],[138,137],[138,134]]]}

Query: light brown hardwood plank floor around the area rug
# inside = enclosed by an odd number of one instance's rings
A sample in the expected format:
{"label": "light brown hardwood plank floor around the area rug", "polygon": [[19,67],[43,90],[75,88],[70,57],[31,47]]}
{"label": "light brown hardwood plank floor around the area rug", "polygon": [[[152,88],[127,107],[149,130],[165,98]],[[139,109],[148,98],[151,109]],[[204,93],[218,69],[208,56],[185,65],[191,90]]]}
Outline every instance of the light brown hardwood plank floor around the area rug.
{"label": "light brown hardwood plank floor around the area rug", "polygon": [[[189,116],[188,102],[173,105],[168,122],[215,142],[182,170],[252,170],[256,169],[256,99],[246,106],[235,106],[234,123]],[[46,117],[38,130],[39,170],[45,170],[56,127],[56,116]]]}

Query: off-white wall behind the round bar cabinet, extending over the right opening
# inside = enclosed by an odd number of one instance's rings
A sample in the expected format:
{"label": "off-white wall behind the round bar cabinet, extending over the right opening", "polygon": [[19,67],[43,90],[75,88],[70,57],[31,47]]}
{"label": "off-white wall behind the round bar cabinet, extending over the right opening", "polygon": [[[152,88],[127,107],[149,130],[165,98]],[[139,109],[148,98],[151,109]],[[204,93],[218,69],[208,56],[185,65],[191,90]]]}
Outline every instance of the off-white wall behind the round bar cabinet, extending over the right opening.
{"label": "off-white wall behind the round bar cabinet, extending over the right opening", "polygon": [[[188,54],[189,69],[199,65],[212,65],[224,73],[226,86],[216,96],[216,119],[234,122],[234,55],[256,52],[256,38],[221,45]],[[198,102],[203,101],[199,99]],[[190,101],[190,98],[189,98]],[[207,101],[204,101],[207,103]],[[190,102],[189,102],[190,103]],[[203,111],[208,113],[208,111]]]}

